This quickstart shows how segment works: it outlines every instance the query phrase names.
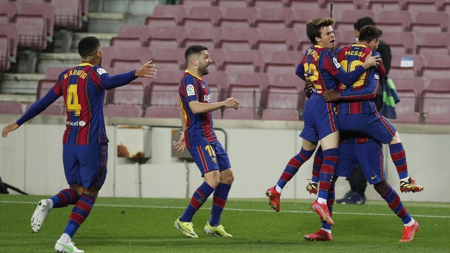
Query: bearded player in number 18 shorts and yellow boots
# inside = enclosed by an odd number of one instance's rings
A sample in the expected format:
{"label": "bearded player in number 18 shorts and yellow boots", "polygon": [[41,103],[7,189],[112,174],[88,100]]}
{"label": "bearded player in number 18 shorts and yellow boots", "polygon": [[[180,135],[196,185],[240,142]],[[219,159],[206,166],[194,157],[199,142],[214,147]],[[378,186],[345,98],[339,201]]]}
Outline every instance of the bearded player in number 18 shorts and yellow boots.
{"label": "bearded player in number 18 shorts and yellow boots", "polygon": [[182,152],[185,148],[189,150],[205,182],[195,190],[186,211],[176,219],[174,226],[185,236],[198,238],[193,229],[192,217],[214,192],[211,216],[204,231],[210,235],[231,237],[220,224],[220,216],[234,177],[228,154],[214,133],[212,112],[222,107],[237,109],[239,100],[228,98],[211,103],[211,91],[202,78],[209,74],[212,63],[206,47],[191,45],[186,49],[185,59],[188,68],[178,89],[184,131],[175,148]]}

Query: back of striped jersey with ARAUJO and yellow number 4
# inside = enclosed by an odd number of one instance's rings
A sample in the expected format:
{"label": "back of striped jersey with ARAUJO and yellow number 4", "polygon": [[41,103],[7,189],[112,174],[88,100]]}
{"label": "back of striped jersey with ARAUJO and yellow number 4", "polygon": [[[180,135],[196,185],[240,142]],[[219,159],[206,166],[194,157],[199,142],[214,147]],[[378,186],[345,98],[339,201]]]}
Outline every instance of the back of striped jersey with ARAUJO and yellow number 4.
{"label": "back of striped jersey with ARAUJO and yellow number 4", "polygon": [[99,77],[102,73],[106,73],[103,68],[82,63],[59,75],[53,90],[63,96],[65,102],[67,120],[64,144],[108,142],[103,117],[105,90]]}

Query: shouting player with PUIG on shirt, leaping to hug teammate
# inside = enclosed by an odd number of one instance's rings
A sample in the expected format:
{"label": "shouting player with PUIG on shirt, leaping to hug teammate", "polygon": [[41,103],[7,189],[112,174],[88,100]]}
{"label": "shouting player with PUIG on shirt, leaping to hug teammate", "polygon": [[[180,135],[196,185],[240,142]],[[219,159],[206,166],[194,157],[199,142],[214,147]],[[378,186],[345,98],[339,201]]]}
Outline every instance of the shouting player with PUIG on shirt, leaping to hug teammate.
{"label": "shouting player with PUIG on shirt, leaping to hug teammate", "polygon": [[369,67],[377,66],[379,58],[369,54],[366,62],[347,73],[331,51],[335,42],[331,27],[333,24],[334,20],[331,18],[318,18],[306,23],[306,34],[313,45],[305,52],[296,74],[303,80],[308,78],[313,81],[314,88],[303,111],[305,125],[300,134],[303,139],[302,148],[299,154],[289,160],[277,184],[266,191],[269,204],[275,211],[280,211],[280,195],[283,187],[311,157],[320,140],[325,158],[320,173],[319,196],[312,202],[311,209],[330,224],[333,224],[333,221],[328,213],[326,199],[334,166],[338,161],[339,126],[333,110],[334,103],[325,102],[322,95],[327,90],[335,89],[338,81],[351,85]]}

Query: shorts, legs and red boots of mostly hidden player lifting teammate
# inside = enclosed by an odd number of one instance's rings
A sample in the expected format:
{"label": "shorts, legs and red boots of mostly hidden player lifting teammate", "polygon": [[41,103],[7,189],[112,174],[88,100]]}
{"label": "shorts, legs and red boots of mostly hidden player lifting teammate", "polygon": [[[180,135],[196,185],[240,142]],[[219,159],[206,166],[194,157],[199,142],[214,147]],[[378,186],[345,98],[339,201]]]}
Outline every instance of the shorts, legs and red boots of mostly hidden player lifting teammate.
{"label": "shorts, legs and red boots of mostly hidden player lifting teammate", "polygon": [[[381,143],[376,142],[367,136],[342,130],[341,136],[343,137],[343,140],[339,145],[339,161],[334,170],[334,176],[327,197],[327,206],[330,214],[333,211],[334,183],[336,182],[336,179],[339,176],[350,176],[353,169],[358,164],[361,166],[363,174],[368,182],[373,185],[375,191],[386,200],[389,208],[403,222],[403,232],[400,242],[411,242],[419,229],[419,223],[411,218],[411,215],[406,208],[404,208],[398,194],[386,181]],[[318,162],[317,166],[320,166],[321,160],[323,159],[320,147],[316,152],[316,158]],[[333,240],[331,226],[324,221],[322,221],[322,228],[319,229],[319,231],[304,235],[303,237],[307,241]]]}

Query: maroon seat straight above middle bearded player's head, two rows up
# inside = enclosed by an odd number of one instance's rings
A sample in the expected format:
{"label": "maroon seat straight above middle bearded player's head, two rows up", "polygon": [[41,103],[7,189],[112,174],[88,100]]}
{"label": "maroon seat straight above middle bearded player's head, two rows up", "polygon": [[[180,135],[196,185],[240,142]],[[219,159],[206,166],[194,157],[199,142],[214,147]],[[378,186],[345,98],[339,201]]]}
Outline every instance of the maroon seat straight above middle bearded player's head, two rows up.
{"label": "maroon seat straight above middle bearded player's head, two rows up", "polygon": [[186,27],[214,27],[221,17],[220,7],[197,6],[188,11],[181,24]]}

